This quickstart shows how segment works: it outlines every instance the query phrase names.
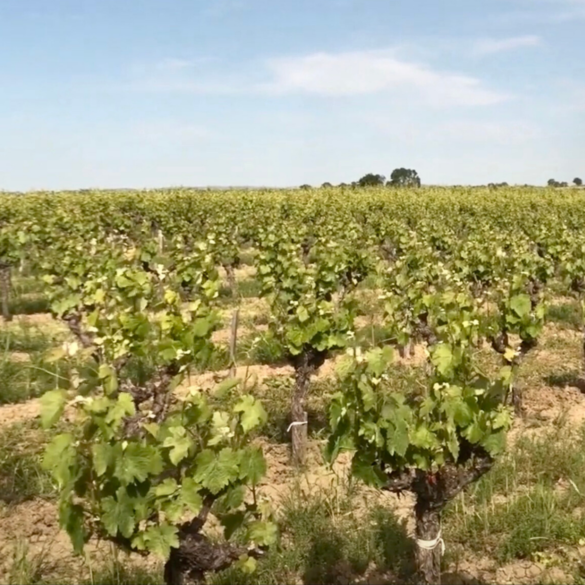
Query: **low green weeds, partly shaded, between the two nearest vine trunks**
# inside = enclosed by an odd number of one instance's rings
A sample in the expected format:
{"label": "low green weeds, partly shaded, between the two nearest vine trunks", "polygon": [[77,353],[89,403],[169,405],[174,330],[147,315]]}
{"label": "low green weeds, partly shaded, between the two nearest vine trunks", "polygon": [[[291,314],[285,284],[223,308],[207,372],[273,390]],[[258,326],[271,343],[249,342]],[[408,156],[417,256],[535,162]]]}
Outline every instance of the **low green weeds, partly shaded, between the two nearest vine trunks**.
{"label": "low green weeds, partly shaded, between the two nearest vine trunks", "polygon": [[[256,573],[235,569],[212,583],[352,583],[366,572],[384,582],[412,577],[412,543],[404,524],[379,505],[356,509],[352,484],[307,494],[298,486],[281,502],[279,550],[260,560]],[[394,578],[394,579],[393,579]]]}

